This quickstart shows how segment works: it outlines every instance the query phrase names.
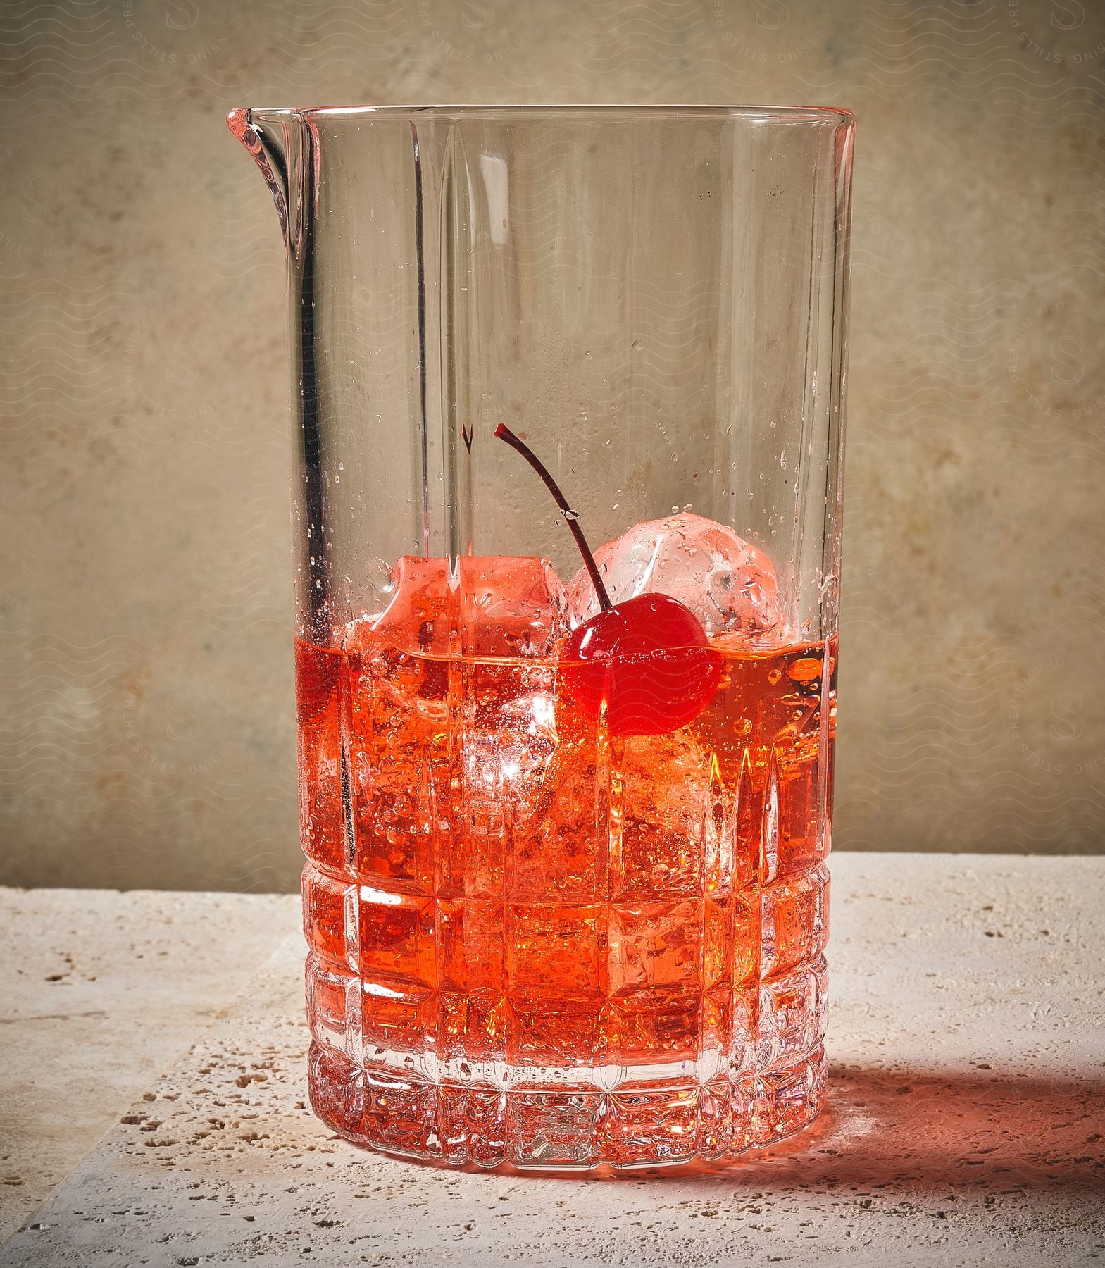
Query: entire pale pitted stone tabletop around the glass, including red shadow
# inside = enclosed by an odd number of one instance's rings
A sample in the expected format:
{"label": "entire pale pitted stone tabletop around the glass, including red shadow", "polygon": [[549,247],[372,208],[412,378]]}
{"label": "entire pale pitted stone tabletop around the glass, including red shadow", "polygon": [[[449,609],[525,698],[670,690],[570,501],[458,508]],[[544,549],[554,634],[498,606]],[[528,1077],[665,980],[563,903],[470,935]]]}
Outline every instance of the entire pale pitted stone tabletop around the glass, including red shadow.
{"label": "entire pale pitted stone tabletop around the glass, including red shadow", "polygon": [[294,898],[6,891],[0,1265],[1105,1262],[1105,858],[833,870],[822,1120],[615,1181],[333,1137]]}

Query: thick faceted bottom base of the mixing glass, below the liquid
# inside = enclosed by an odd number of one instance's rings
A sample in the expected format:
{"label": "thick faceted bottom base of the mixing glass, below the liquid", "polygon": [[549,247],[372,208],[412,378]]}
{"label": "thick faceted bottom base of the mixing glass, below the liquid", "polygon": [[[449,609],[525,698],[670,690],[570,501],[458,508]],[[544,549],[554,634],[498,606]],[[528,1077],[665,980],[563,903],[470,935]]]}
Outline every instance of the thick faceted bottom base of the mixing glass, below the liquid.
{"label": "thick faceted bottom base of the mixing glass, below the liquid", "polygon": [[[537,1073],[536,1070],[533,1071]],[[808,1126],[825,1103],[825,1050],[779,1070],[706,1083],[636,1078],[580,1083],[541,1070],[540,1083],[451,1084],[360,1066],[312,1044],[314,1112],[346,1140],[402,1158],[528,1170],[679,1167],[717,1161]],[[649,1074],[654,1075],[655,1066]]]}

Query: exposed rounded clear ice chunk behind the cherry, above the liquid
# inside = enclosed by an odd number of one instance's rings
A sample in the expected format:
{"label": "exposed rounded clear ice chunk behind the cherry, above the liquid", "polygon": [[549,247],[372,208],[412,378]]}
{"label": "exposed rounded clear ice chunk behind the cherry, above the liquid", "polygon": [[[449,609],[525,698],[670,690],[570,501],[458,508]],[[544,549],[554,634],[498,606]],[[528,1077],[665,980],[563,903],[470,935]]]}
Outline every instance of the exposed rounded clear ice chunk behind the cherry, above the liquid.
{"label": "exposed rounded clear ice chunk behind the cherry, above the liquid", "polygon": [[[778,585],[770,559],[716,520],[684,511],[635,524],[594,552],[611,602],[635,595],[669,595],[684,604],[707,634],[760,634],[779,623]],[[573,629],[598,612],[585,568],[568,585]]]}

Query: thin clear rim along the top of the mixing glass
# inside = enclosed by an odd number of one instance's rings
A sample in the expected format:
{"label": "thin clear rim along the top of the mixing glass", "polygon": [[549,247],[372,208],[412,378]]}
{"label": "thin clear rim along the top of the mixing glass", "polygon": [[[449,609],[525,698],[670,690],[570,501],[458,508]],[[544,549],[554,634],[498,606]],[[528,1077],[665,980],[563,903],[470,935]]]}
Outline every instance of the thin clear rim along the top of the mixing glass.
{"label": "thin clear rim along the top of the mixing glass", "polygon": [[732,119],[744,123],[831,123],[854,126],[855,115],[843,105],[699,105],[699,104],[422,104],[422,105],[308,105],[308,107],[245,107],[231,112],[245,113],[247,122],[289,122],[291,119],[345,119],[379,115],[390,119],[502,119],[512,123],[539,122],[542,117],[583,119],[606,115],[627,122],[649,118]]}

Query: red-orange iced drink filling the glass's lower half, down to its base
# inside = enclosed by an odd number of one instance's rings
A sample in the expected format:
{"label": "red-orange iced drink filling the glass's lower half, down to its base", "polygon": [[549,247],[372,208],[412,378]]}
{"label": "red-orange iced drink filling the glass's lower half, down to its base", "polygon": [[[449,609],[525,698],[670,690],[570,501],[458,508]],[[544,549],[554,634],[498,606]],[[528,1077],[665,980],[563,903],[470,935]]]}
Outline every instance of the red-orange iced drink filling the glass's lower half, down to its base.
{"label": "red-orange iced drink filling the glass's lower half, down to its base", "polygon": [[297,643],[322,1117],[416,1156],[555,1167],[805,1125],[835,645],[713,639],[707,708],[620,737],[554,659],[348,642]]}

